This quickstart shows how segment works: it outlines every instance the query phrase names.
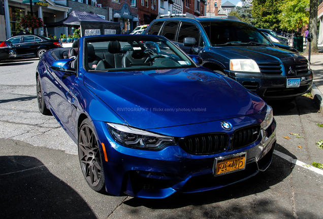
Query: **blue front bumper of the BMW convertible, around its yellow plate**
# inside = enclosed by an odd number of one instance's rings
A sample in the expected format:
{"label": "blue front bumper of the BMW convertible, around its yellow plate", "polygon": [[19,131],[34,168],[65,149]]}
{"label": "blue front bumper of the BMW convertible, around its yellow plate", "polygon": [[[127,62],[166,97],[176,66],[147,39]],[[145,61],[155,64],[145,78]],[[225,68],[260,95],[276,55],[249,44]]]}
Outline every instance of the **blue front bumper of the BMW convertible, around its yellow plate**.
{"label": "blue front bumper of the BMW convertible, around its yellow plate", "polygon": [[[106,123],[94,122],[94,125],[100,147],[104,143],[107,151],[108,162],[104,161],[101,148],[107,192],[140,198],[158,199],[176,192],[208,191],[247,179],[268,168],[276,143],[275,120],[266,131],[262,130],[253,144],[212,155],[191,155],[178,145],[160,151],[127,148],[114,141]],[[216,177],[213,175],[216,157],[239,152],[247,153],[244,170]]]}

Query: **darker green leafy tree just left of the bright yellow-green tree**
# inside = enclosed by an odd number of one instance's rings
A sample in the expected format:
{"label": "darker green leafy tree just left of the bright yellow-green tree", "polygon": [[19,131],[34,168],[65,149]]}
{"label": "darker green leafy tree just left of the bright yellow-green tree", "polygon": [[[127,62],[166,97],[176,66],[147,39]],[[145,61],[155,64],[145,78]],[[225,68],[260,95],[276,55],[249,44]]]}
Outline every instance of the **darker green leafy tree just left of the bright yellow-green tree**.
{"label": "darker green leafy tree just left of the bright yellow-green tree", "polygon": [[252,0],[251,14],[254,19],[254,26],[257,28],[279,29],[281,5],[280,0]]}

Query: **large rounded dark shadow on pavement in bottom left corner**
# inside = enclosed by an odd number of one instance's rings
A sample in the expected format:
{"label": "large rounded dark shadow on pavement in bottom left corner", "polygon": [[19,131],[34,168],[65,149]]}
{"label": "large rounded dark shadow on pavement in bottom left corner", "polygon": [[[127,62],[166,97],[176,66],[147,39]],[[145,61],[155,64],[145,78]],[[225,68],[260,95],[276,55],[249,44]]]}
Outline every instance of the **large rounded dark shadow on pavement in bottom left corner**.
{"label": "large rounded dark shadow on pavement in bottom left corner", "polygon": [[29,156],[0,156],[0,218],[96,218],[86,202]]}

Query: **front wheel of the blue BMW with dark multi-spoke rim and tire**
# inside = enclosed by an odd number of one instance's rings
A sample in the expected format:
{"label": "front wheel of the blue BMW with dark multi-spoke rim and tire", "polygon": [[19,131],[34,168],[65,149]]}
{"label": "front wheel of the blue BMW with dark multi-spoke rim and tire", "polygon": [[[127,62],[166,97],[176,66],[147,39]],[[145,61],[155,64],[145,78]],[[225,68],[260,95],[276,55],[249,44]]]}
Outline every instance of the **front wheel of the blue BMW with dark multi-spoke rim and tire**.
{"label": "front wheel of the blue BMW with dark multi-spoke rim and tire", "polygon": [[96,192],[105,189],[103,164],[92,125],[85,119],[79,131],[78,151],[81,169],[89,187]]}

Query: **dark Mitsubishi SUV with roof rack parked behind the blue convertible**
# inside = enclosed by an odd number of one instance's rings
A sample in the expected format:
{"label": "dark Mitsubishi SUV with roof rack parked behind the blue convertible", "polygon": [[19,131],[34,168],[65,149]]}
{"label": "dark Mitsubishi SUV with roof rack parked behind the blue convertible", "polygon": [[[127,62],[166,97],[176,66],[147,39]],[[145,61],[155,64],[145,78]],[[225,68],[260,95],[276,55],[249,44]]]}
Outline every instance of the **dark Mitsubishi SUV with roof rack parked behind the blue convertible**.
{"label": "dark Mitsubishi SUV with roof rack parked behind the blue convertible", "polygon": [[275,47],[236,17],[158,15],[146,34],[163,35],[202,66],[228,76],[265,100],[293,100],[311,88],[313,71],[302,55]]}

